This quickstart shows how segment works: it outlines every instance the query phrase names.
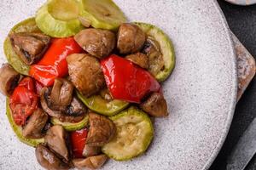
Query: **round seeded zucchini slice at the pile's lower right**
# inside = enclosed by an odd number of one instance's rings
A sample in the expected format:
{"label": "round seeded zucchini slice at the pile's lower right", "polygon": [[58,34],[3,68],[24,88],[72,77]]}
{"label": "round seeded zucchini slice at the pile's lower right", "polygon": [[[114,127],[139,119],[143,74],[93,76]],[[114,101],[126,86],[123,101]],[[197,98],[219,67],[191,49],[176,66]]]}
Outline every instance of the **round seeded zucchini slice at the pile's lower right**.
{"label": "round seeded zucchini slice at the pile's lower right", "polygon": [[130,107],[110,119],[117,127],[117,134],[102,147],[103,153],[116,161],[127,161],[148,149],[154,128],[146,113]]}

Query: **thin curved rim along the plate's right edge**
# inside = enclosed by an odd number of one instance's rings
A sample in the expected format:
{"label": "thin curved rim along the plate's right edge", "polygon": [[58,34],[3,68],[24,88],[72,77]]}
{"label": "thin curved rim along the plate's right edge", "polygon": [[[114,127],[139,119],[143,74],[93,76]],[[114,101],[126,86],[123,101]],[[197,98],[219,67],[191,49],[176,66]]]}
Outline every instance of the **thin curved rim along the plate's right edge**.
{"label": "thin curved rim along the plate's right edge", "polygon": [[212,150],[211,156],[209,156],[208,161],[205,163],[204,167],[202,169],[207,170],[208,168],[210,168],[212,166],[213,161],[216,159],[216,157],[218,156],[219,151],[221,150],[224,141],[230,131],[230,125],[231,122],[233,120],[233,116],[235,113],[235,109],[236,109],[236,95],[237,95],[237,69],[236,69],[236,50],[234,48],[234,42],[232,41],[231,38],[231,32],[230,32],[230,27],[228,25],[227,20],[225,19],[224,13],[222,11],[222,9],[220,8],[220,6],[218,5],[218,2],[215,0],[212,0],[213,6],[217,11],[217,14],[219,16],[220,22],[222,23],[223,27],[224,27],[224,31],[226,33],[226,36],[228,38],[228,42],[230,43],[230,51],[232,53],[232,56],[230,56],[230,58],[233,58],[232,61],[232,65],[233,65],[233,80],[232,80],[232,86],[230,86],[230,89],[232,90],[232,100],[230,102],[230,110],[227,113],[226,116],[226,120],[225,120],[225,125],[224,125],[224,129],[223,132],[221,133],[221,137],[218,139],[218,144],[216,144],[215,149]]}

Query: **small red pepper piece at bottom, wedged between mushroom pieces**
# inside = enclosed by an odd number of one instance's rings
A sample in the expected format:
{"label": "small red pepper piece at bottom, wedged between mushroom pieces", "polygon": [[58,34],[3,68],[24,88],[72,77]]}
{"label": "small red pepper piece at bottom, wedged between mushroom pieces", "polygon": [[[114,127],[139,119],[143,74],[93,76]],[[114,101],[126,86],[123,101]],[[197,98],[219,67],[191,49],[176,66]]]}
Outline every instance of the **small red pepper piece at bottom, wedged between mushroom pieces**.
{"label": "small red pepper piece at bottom, wedged between mushroom pieces", "polygon": [[84,157],[83,150],[84,150],[84,145],[85,145],[85,141],[87,138],[87,134],[88,134],[87,128],[70,133],[71,144],[72,144],[72,149],[73,149],[73,156],[75,158],[83,158]]}

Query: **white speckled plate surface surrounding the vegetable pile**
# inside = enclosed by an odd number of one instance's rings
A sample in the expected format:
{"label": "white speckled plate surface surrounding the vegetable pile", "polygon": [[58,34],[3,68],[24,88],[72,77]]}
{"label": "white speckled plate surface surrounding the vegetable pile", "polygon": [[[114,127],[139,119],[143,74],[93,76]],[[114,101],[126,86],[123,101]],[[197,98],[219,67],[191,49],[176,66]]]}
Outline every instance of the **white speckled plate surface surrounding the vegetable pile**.
{"label": "white speckled plate surface surrounding the vegetable pile", "polygon": [[[172,38],[177,66],[164,83],[170,116],[154,122],[154,141],[132,161],[108,161],[106,170],[207,169],[228,133],[236,105],[236,57],[230,31],[215,0],[116,0],[130,20],[160,26]],[[0,61],[9,29],[42,0],[1,0]],[[1,73],[0,73],[1,74]],[[15,138],[0,114],[0,169],[41,169],[34,149]]]}

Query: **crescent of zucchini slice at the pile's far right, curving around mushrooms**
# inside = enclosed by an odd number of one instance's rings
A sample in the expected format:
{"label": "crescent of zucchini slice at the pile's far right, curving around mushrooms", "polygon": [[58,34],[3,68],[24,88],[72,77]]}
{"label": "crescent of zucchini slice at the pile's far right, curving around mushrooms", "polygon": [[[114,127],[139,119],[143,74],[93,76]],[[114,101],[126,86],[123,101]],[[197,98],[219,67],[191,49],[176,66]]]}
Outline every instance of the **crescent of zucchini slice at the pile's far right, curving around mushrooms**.
{"label": "crescent of zucchini slice at the pile's far right, curving around mushrooms", "polygon": [[156,42],[159,43],[160,53],[162,54],[162,59],[164,61],[164,67],[159,72],[157,72],[154,77],[159,82],[165,81],[166,78],[171,75],[175,67],[175,53],[172,41],[164,31],[160,30],[160,28],[156,26],[140,22],[136,22],[135,24],[139,26],[147,34],[148,37],[153,38]]}

